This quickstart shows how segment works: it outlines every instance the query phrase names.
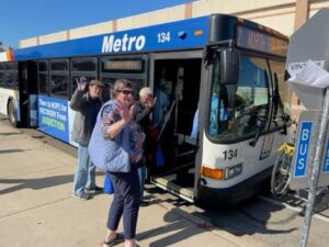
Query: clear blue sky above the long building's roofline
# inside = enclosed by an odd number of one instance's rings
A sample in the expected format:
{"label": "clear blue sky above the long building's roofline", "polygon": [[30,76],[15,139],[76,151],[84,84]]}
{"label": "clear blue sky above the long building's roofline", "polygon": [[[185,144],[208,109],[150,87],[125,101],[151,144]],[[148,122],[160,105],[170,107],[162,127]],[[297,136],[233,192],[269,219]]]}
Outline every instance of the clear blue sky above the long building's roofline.
{"label": "clear blue sky above the long building's roofline", "polygon": [[0,41],[19,41],[195,0],[0,0]]}

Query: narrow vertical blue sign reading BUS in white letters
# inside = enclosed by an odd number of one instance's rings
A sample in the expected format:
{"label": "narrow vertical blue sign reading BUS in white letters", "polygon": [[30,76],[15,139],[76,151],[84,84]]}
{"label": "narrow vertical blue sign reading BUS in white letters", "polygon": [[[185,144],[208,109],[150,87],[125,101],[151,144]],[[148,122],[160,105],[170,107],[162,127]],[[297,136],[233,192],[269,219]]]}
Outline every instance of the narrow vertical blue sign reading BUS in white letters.
{"label": "narrow vertical blue sign reading BUS in white letters", "polygon": [[296,153],[295,166],[294,166],[295,177],[306,176],[308,149],[309,149],[310,137],[311,137],[311,127],[313,127],[313,122],[307,121],[300,123],[297,153]]}

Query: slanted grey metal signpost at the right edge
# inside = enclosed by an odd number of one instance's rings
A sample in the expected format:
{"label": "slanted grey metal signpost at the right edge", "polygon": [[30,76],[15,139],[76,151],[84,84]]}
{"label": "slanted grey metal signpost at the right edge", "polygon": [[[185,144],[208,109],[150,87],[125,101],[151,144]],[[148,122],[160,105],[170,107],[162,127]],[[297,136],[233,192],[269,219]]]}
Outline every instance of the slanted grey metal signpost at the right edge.
{"label": "slanted grey metal signpost at the right edge", "polygon": [[314,162],[311,167],[306,213],[305,213],[304,225],[303,225],[302,236],[300,236],[300,245],[299,245],[300,247],[307,246],[308,233],[311,223],[311,214],[313,214],[314,202],[316,197],[316,189],[317,189],[319,175],[320,175],[320,165],[322,160],[324,145],[325,145],[325,139],[326,139],[327,128],[328,128],[328,114],[329,114],[329,88],[326,89],[326,97],[325,97],[325,103],[322,109],[319,136],[316,146]]}

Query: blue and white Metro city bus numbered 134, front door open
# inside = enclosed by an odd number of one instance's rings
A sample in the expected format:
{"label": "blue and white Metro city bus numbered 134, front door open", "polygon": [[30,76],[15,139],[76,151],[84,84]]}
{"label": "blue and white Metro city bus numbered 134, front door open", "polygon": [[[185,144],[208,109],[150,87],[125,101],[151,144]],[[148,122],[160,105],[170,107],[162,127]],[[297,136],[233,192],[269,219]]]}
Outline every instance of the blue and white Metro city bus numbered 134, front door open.
{"label": "blue and white Metro city bus numbered 134, front door open", "polygon": [[212,14],[14,49],[0,64],[1,113],[75,145],[76,79],[149,86],[158,99],[150,180],[190,202],[238,202],[262,188],[285,139],[287,44],[269,27]]}

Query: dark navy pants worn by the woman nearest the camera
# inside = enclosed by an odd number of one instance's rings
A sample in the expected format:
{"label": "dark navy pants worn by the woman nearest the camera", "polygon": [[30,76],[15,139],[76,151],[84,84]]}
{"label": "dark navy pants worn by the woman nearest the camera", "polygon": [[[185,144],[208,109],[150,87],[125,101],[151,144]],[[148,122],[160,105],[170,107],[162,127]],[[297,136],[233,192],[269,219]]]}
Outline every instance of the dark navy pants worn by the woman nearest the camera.
{"label": "dark navy pants worn by the woman nearest the camera", "polygon": [[111,172],[114,188],[114,199],[110,207],[107,228],[116,231],[123,216],[125,239],[136,236],[136,225],[139,210],[139,179],[136,166],[131,172]]}

